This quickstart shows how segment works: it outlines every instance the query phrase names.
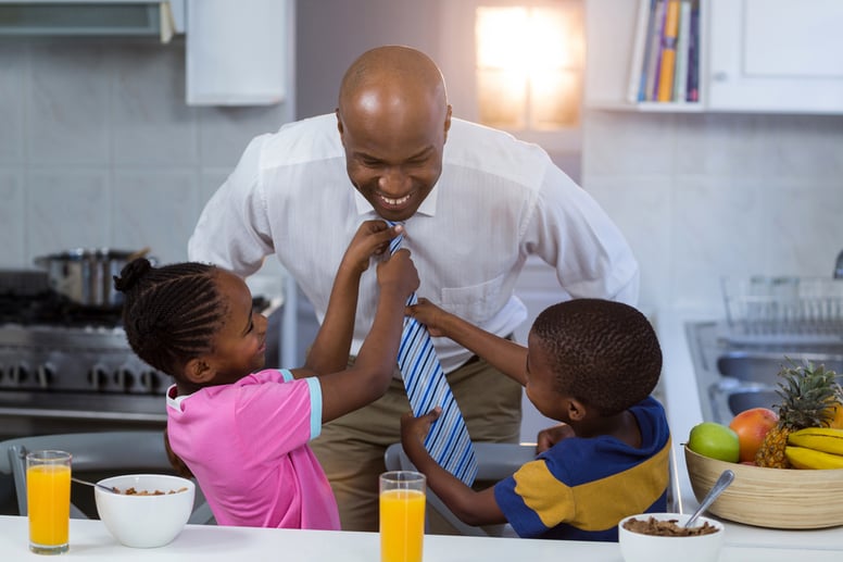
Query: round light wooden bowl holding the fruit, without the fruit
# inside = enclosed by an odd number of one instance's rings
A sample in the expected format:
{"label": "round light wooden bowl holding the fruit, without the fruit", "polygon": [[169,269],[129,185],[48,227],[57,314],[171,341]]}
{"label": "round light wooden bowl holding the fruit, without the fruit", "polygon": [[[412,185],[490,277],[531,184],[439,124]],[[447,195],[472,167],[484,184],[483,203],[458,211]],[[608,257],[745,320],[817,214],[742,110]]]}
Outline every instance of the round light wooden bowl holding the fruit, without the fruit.
{"label": "round light wooden bowl holding the fruit, without the fruit", "polygon": [[779,529],[843,525],[843,469],[762,469],[709,459],[684,447],[685,465],[697,501],[725,470],[734,482],[708,508],[718,517]]}

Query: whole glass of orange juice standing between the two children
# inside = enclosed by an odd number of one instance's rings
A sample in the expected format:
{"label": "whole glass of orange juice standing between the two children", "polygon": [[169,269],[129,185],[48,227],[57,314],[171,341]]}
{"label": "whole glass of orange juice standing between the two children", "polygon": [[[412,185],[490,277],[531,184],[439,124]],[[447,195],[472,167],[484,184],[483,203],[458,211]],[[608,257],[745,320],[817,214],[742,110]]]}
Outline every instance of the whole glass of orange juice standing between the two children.
{"label": "whole glass of orange juice standing between the two children", "polygon": [[425,475],[380,475],[380,562],[421,562],[425,536]]}

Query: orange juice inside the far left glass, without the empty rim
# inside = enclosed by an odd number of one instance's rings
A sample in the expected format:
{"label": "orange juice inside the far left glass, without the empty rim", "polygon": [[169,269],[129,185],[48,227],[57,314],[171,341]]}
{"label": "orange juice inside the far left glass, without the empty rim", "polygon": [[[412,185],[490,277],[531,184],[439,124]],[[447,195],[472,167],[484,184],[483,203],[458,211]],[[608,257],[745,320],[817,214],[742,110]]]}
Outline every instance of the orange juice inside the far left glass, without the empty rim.
{"label": "orange juice inside the far left glass, without the empty rim", "polygon": [[29,544],[66,547],[71,522],[71,467],[38,464],[26,470]]}

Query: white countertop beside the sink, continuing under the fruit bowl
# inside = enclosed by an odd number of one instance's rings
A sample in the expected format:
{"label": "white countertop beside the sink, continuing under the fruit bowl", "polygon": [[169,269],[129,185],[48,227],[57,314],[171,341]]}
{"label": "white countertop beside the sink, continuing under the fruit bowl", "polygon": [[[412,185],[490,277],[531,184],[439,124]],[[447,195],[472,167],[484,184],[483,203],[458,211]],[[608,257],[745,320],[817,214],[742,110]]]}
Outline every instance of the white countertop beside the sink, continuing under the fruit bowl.
{"label": "white countertop beside the sink, continuing under the fruit bowl", "polygon": [[[678,484],[678,507],[682,513],[694,511],[700,503],[694,498],[684,462],[683,444],[691,428],[703,421],[700,394],[685,339],[687,322],[717,321],[710,311],[658,311],[656,332],[664,355],[664,397],[668,423],[672,434],[672,455]],[[727,542],[731,545],[764,545],[777,549],[794,545],[810,545],[819,549],[843,548],[843,527],[815,530],[777,530],[753,527],[722,520],[727,528]],[[811,558],[810,560],[815,560]],[[816,559],[819,560],[819,559]]]}

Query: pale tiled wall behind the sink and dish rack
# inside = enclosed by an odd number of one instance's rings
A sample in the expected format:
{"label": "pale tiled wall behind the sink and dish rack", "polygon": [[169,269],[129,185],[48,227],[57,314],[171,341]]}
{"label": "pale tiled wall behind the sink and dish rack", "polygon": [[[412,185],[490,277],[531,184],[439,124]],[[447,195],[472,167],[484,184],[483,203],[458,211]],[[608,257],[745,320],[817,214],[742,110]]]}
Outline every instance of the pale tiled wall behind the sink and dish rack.
{"label": "pale tiled wall behind the sink and dish rack", "polygon": [[582,185],[629,238],[641,305],[722,316],[721,276],[831,276],[843,116],[590,111]]}

